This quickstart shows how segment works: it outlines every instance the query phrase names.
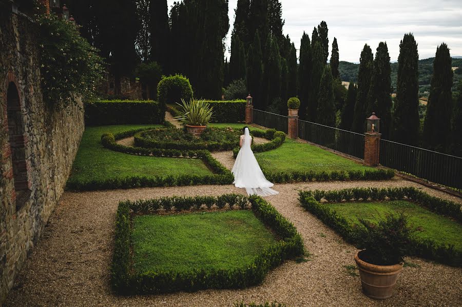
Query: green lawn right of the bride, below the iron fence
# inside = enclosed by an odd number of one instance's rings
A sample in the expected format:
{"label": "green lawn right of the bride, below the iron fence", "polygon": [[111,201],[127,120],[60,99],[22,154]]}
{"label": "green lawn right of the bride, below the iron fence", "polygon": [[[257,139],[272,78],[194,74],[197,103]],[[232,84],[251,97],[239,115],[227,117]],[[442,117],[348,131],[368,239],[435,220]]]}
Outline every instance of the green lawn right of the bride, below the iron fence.
{"label": "green lawn right of the bride, below the iron fence", "polygon": [[319,147],[288,138],[279,148],[256,153],[255,157],[262,170],[267,172],[325,171],[330,173],[332,171],[373,169]]}

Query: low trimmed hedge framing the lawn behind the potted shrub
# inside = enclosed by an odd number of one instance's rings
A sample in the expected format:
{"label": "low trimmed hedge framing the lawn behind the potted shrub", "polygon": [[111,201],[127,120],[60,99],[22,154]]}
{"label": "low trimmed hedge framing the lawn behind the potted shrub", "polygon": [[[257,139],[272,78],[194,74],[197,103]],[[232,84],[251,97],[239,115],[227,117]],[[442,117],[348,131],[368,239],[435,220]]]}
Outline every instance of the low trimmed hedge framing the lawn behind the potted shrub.
{"label": "low trimmed hedge framing the lawn behind the potted shrub", "polygon": [[[329,226],[341,235],[347,242],[360,245],[363,228],[352,225],[347,219],[337,215],[335,210],[329,209],[320,203],[321,199],[328,202],[341,202],[342,200],[358,201],[377,200],[408,200],[419,204],[428,210],[449,216],[458,222],[462,222],[462,211],[459,204],[433,197],[413,187],[406,188],[354,188],[333,191],[300,191],[299,200],[301,206],[316,215],[326,226]],[[360,206],[360,202],[358,202]],[[438,244],[430,239],[412,238],[409,247],[409,255],[435,260],[453,267],[462,266],[462,252],[454,250],[452,245]]]}

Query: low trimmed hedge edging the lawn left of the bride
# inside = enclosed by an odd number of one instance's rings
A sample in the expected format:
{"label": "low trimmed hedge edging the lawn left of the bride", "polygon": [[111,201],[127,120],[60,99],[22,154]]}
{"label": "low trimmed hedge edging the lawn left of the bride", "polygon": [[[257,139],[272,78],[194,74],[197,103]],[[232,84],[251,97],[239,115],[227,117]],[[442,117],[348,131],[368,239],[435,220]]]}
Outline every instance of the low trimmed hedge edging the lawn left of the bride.
{"label": "low trimmed hedge edging the lawn left of the bride", "polygon": [[208,151],[181,151],[175,149],[147,149],[140,147],[128,147],[118,144],[116,140],[131,136],[143,130],[155,128],[141,128],[125,131],[112,135],[105,133],[101,136],[101,142],[107,149],[132,155],[156,156],[156,157],[178,157],[178,158],[198,158],[207,165],[214,174],[210,175],[179,175],[179,176],[131,176],[126,178],[113,178],[105,180],[89,180],[85,182],[67,182],[66,189],[75,191],[94,191],[94,190],[113,190],[131,189],[143,187],[174,187],[192,185],[230,185],[234,181],[233,174],[216,160]]}

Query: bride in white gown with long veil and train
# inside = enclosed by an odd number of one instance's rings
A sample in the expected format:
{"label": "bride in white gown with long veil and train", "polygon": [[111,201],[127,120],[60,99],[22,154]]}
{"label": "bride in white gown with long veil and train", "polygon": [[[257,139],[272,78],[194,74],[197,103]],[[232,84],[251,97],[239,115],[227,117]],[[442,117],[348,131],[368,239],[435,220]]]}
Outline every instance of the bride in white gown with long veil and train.
{"label": "bride in white gown with long veil and train", "polygon": [[251,149],[252,137],[247,127],[244,127],[244,135],[241,135],[239,154],[234,163],[234,185],[237,188],[245,188],[248,195],[257,194],[260,196],[276,195],[279,192],[271,189],[273,183],[266,180],[258,165],[257,159]]}

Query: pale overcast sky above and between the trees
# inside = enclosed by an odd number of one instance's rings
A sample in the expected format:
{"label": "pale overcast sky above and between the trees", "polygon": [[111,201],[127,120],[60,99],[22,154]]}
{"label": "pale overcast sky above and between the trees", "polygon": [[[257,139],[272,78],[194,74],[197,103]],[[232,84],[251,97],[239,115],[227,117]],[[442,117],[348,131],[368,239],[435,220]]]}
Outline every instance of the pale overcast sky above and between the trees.
{"label": "pale overcast sky above and between the trees", "polygon": [[[167,2],[170,8],[174,0]],[[451,56],[462,56],[461,0],[281,0],[281,3],[284,35],[291,37],[297,49],[303,31],[311,37],[313,27],[324,20],[329,28],[330,48],[334,36],[337,38],[340,60],[359,62],[364,44],[369,44],[375,53],[381,41],[387,42],[391,60],[397,60],[399,42],[408,32],[414,33],[420,59],[435,56],[441,43],[448,44]],[[236,4],[237,0],[229,0],[227,48]]]}

